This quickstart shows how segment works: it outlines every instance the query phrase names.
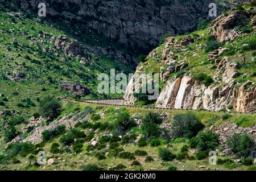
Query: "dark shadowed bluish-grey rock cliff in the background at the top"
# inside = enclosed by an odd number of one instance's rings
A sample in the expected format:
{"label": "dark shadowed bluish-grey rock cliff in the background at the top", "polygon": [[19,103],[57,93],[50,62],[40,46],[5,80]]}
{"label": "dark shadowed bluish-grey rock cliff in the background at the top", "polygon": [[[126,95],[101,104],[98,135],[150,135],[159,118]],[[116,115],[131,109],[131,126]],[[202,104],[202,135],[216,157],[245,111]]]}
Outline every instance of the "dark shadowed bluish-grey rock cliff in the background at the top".
{"label": "dark shadowed bluish-grey rock cliff in the background at the top", "polygon": [[[212,1],[125,0],[125,1],[40,1],[46,2],[47,16],[82,20],[92,28],[125,47],[155,47],[165,33],[184,34],[207,18]],[[38,0],[22,0],[23,10],[36,10]],[[221,11],[218,7],[218,11]]]}

